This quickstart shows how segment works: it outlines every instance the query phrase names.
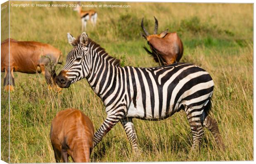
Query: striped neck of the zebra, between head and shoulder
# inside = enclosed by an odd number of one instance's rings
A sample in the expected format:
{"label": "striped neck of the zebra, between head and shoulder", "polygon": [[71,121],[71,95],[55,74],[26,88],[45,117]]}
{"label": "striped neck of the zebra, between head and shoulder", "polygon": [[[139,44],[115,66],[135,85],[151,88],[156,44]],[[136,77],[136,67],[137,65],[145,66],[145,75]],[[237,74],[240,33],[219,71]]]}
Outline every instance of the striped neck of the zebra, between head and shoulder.
{"label": "striped neck of the zebra, between head and shoulder", "polygon": [[[92,46],[93,47],[93,46]],[[90,74],[86,77],[94,92],[107,103],[107,97],[113,93],[119,83],[119,60],[109,56],[104,49],[93,49],[90,60]]]}

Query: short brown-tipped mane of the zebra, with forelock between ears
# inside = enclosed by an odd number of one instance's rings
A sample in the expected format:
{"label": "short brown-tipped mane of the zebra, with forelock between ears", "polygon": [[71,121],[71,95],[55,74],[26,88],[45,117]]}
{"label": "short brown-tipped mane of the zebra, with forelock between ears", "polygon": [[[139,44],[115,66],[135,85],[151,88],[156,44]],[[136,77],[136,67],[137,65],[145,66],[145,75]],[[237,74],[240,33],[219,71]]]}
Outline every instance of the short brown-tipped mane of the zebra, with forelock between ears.
{"label": "short brown-tipped mane of the zebra, with forelock between ears", "polygon": [[[78,45],[79,44],[79,41],[80,41],[80,35],[78,36],[78,38],[75,40],[74,44]],[[100,46],[100,44],[97,44],[96,42],[94,42],[92,39],[88,38],[88,46],[91,48],[91,49],[94,49],[95,52],[99,55],[104,55],[104,56],[108,56],[107,58],[107,61],[109,61],[109,63],[111,65],[114,65],[114,66],[120,66],[120,60],[117,59],[117,58],[114,58],[112,56],[110,56],[104,48],[102,48]]]}

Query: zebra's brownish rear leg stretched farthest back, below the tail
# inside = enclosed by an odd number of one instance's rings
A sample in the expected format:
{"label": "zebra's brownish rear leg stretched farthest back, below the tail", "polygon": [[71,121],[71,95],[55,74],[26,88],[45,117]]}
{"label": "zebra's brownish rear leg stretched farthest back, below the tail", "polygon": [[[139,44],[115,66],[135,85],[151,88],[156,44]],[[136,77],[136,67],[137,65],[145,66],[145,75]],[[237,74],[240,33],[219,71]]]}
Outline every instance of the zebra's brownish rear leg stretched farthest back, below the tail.
{"label": "zebra's brownish rear leg stretched farthest back, below the tail", "polygon": [[216,141],[217,146],[219,148],[225,150],[225,145],[224,145],[222,137],[220,135],[218,123],[216,122],[216,120],[214,118],[211,118],[209,115],[207,115],[204,120],[204,126],[210,130],[211,134],[213,134],[213,137]]}

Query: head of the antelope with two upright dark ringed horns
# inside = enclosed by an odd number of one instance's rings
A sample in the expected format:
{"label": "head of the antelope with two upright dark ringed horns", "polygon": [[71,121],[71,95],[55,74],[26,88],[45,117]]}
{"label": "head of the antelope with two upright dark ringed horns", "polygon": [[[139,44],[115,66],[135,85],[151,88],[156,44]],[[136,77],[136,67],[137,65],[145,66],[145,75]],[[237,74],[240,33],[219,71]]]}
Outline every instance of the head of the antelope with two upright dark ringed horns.
{"label": "head of the antelope with two upright dark ringed horns", "polygon": [[141,21],[141,28],[144,33],[140,32],[140,35],[142,37],[144,37],[148,42],[150,42],[150,39],[152,39],[153,37],[163,38],[168,33],[168,28],[167,28],[164,32],[157,34],[158,21],[157,21],[156,17],[154,17],[154,18],[155,18],[155,28],[154,28],[154,34],[152,34],[152,35],[149,35],[149,32],[147,32],[147,30],[144,27],[144,24],[143,24],[144,18],[142,18],[142,21]]}

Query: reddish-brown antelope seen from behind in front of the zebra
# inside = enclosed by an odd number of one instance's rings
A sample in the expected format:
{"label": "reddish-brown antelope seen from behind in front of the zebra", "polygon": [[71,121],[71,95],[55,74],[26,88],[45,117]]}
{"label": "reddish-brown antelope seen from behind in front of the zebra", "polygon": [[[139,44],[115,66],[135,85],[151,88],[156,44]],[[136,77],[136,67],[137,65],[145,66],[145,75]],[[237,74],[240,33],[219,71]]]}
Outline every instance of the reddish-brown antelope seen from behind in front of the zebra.
{"label": "reddish-brown antelope seen from behind in front of the zebra", "polygon": [[50,139],[56,162],[89,162],[93,148],[94,127],[77,109],[66,109],[52,120]]}

